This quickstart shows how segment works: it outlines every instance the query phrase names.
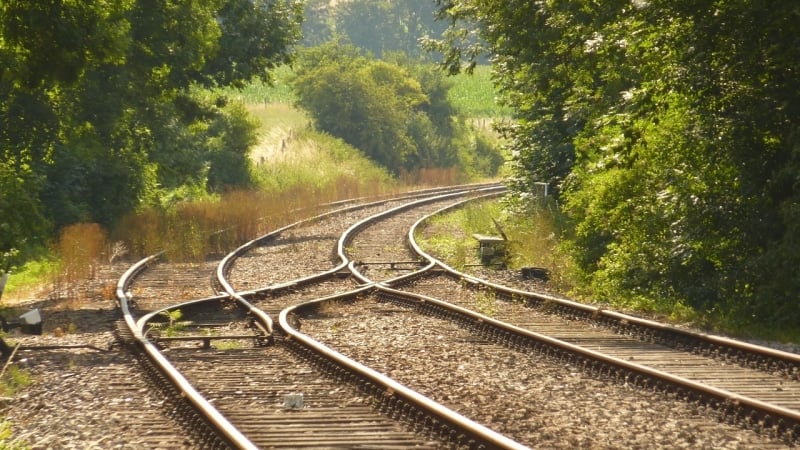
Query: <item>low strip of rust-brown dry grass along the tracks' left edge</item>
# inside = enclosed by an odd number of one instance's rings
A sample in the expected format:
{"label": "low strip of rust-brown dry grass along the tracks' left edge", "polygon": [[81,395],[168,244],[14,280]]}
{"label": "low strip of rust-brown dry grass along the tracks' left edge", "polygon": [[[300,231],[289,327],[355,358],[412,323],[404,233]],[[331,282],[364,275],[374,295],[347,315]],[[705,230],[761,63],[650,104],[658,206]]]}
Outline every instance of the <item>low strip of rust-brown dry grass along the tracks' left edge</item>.
{"label": "low strip of rust-brown dry grass along the tracks' left edge", "polygon": [[120,218],[111,233],[96,223],[65,227],[53,246],[58,264],[51,272],[53,294],[84,300],[82,282],[123,254],[132,261],[164,252],[175,262],[200,262],[229,253],[301,218],[320,205],[395,192],[379,179],[343,173],[324,185],[293,184],[284,190],[231,191],[219,198],[179,203],[170,209],[144,208]]}

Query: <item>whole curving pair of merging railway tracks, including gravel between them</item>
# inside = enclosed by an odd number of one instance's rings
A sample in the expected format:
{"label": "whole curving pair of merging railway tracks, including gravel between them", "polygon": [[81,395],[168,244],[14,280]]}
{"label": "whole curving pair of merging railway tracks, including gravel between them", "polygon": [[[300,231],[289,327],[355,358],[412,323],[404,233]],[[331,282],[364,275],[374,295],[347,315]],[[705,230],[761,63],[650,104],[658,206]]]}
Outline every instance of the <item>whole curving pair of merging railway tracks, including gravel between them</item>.
{"label": "whole curving pair of merging railway tracks, including gravel between them", "polygon": [[[413,242],[421,216],[502,191],[479,188],[343,206],[180,274],[142,262],[118,285],[127,341],[204,447],[797,442],[796,355],[485,282]],[[175,310],[193,324],[163,335]]]}

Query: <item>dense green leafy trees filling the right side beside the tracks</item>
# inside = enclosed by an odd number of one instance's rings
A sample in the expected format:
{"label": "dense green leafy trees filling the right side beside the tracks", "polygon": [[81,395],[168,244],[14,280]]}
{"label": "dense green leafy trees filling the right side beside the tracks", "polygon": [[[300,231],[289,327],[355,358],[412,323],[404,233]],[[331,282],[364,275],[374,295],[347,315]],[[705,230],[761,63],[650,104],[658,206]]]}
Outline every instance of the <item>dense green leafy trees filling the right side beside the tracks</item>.
{"label": "dense green leafy trees filling the right side beside the tracks", "polygon": [[[600,300],[800,326],[796,2],[438,4],[430,47],[493,55],[516,197],[550,183]],[[473,26],[487,48],[456,39]]]}

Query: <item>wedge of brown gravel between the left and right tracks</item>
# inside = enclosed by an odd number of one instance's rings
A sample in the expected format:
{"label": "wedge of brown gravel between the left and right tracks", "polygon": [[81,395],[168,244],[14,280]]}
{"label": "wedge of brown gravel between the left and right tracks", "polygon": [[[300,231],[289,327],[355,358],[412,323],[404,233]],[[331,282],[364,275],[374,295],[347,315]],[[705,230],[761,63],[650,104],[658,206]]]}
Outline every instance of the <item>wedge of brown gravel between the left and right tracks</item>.
{"label": "wedge of brown gravel between the left and right tracks", "polygon": [[533,448],[783,446],[720,423],[712,411],[609,385],[391,303],[340,303],[301,321],[303,333]]}

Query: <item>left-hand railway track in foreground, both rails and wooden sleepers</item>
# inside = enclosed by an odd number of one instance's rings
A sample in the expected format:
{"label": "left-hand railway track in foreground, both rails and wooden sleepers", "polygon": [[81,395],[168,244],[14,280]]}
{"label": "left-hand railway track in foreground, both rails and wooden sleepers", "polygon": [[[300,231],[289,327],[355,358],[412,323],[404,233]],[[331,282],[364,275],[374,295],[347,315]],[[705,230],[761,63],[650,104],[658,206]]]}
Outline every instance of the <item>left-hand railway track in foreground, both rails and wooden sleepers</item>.
{"label": "left-hand railway track in foreground, both rails and wooden sleepers", "polygon": [[[277,233],[259,242],[275,236]],[[228,271],[226,264],[226,260],[219,263],[218,274]],[[129,340],[143,348],[158,372],[187,399],[190,415],[202,423],[199,428],[208,430],[197,433],[203,436],[203,445],[479,448],[481,442],[499,442],[508,448],[516,446],[478,425],[459,429],[462,419],[457,415],[442,413],[438,405],[425,399],[409,399],[415,394],[406,395],[402,386],[358,364],[325,355],[313,344],[298,345],[281,336],[276,338],[270,316],[250,303],[281,291],[296,294],[299,286],[316,279],[323,281],[315,287],[318,294],[319,289],[326,289],[324,281],[335,278],[341,268],[278,281],[261,292],[245,292],[248,299],[232,290],[225,278],[219,278],[217,287],[228,291],[227,295],[217,295],[217,289],[212,288],[214,295],[176,304],[174,299],[188,297],[181,292],[195,289],[198,295],[208,293],[205,289],[197,291],[205,270],[178,275],[169,269],[151,271],[154,267],[158,267],[154,260],[142,261],[118,285],[119,301],[131,329]],[[353,287],[346,280],[327,285],[333,290],[350,291]],[[134,307],[129,308],[129,304]],[[164,335],[164,325],[174,325],[167,319],[174,311],[181,311],[182,318],[192,324],[181,328],[179,336]],[[133,312],[141,316],[134,317]],[[243,331],[247,325],[254,331],[249,335]],[[289,389],[302,389],[302,408],[279,407],[281,398],[285,406],[295,395]]]}

